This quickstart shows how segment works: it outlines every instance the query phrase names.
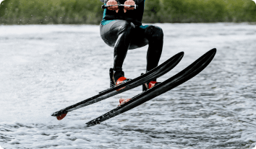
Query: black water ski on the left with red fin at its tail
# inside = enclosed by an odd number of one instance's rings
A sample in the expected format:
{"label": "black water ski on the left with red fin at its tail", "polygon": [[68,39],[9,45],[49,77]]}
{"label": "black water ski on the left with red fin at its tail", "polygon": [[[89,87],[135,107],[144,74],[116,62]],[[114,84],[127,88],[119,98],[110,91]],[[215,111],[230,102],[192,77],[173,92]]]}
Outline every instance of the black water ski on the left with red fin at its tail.
{"label": "black water ski on the left with red fin at its tail", "polygon": [[128,91],[129,89],[134,89],[135,87],[140,86],[143,83],[151,81],[155,78],[159,78],[160,76],[163,76],[165,73],[168,73],[168,71],[171,71],[171,69],[174,68],[180,62],[180,60],[182,60],[183,55],[184,52],[178,53],[173,57],[169,58],[168,60],[166,60],[160,66],[153,68],[153,70],[148,71],[148,73],[145,73],[142,76],[138,76],[137,78],[134,78],[126,83],[121,83],[119,84],[119,86],[114,86],[110,89],[101,91],[99,94],[90,97],[89,99],[85,99],[83,101],[78,102],[77,104],[73,104],[72,106],[61,109],[58,112],[54,112],[53,114],[51,114],[51,116],[57,117],[57,119],[61,120],[64,117],[66,117],[68,112],[71,112],[75,109],[79,109],[81,107],[88,106],[90,104],[94,104],[103,99],[115,96],[116,94]]}

